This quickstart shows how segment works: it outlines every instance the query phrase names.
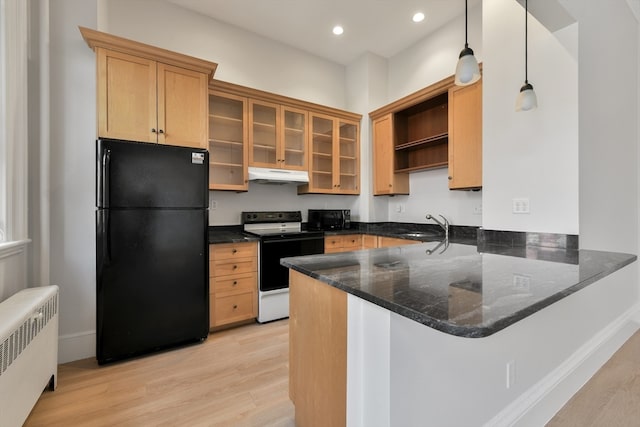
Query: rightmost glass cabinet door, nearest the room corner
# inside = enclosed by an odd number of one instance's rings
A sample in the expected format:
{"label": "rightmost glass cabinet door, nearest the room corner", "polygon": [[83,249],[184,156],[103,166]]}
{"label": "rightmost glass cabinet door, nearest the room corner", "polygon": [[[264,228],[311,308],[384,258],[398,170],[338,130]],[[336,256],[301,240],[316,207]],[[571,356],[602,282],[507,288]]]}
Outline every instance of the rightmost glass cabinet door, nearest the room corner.
{"label": "rightmost glass cabinet door, nearest the room corner", "polygon": [[338,122],[338,138],[336,140],[335,169],[337,192],[341,194],[358,194],[360,192],[360,144],[358,143],[358,124]]}

